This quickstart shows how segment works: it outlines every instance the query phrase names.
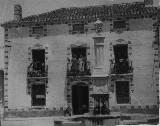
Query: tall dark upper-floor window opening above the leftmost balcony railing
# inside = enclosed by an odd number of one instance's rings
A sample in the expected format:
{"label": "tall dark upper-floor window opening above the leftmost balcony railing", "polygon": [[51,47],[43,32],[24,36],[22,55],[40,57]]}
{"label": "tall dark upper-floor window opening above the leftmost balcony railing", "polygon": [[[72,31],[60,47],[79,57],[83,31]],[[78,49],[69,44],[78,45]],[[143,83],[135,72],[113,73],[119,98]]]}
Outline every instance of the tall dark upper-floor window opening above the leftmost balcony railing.
{"label": "tall dark upper-floor window opening above the leftmost balcony railing", "polygon": [[45,70],[45,50],[44,49],[33,49],[32,50],[32,65],[33,70],[39,70],[44,72]]}

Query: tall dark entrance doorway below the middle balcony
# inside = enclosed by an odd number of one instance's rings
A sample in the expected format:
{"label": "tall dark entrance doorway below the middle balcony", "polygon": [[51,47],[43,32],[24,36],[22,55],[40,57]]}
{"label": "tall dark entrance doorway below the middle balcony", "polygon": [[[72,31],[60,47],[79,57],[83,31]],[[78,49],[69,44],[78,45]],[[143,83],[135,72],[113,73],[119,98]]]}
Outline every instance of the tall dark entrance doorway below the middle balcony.
{"label": "tall dark entrance doorway below the middle balcony", "polygon": [[89,90],[86,85],[72,86],[72,108],[73,114],[87,113],[89,110]]}

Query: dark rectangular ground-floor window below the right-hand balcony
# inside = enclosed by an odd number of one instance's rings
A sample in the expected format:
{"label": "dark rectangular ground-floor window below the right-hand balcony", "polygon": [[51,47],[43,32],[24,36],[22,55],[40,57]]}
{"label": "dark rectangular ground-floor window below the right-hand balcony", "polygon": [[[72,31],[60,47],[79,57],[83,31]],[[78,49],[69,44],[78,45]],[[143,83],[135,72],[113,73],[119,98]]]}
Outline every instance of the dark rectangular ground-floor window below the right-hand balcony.
{"label": "dark rectangular ground-floor window below the right-hand balcony", "polygon": [[117,104],[130,103],[129,82],[128,81],[117,81],[116,82],[116,98],[117,98]]}

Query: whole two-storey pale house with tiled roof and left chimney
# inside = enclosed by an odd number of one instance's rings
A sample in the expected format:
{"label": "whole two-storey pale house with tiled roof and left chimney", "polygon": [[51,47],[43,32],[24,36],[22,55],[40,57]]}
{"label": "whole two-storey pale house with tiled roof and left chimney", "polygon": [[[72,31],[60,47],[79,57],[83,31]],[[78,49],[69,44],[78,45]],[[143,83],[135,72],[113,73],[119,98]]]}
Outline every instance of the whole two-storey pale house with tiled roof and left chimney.
{"label": "whole two-storey pale house with tiled roof and left chimney", "polygon": [[140,2],[22,17],[15,5],[2,24],[5,112],[157,110],[157,14]]}

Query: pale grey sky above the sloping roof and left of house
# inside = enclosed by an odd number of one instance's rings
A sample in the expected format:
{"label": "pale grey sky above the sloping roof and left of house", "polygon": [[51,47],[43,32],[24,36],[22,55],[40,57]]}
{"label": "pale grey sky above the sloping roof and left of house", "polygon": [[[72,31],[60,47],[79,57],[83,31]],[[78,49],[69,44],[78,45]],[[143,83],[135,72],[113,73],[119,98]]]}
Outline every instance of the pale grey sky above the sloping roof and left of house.
{"label": "pale grey sky above the sloping roof and left of house", "polygon": [[[126,3],[144,0],[0,0],[0,23],[13,19],[14,4],[21,4],[23,17],[48,12],[62,7]],[[0,69],[3,68],[4,31],[0,27]]]}

